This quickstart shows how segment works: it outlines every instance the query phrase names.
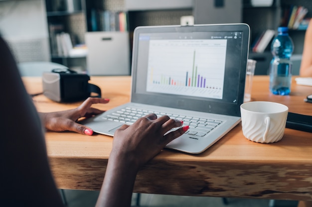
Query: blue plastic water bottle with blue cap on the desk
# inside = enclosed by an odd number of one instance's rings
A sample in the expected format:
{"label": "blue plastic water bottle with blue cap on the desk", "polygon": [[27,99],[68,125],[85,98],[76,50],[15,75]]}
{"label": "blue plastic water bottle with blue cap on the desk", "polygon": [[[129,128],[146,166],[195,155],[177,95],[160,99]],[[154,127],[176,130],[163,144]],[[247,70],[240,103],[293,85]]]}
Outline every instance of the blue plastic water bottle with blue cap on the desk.
{"label": "blue plastic water bottle with blue cap on the desk", "polygon": [[270,91],[276,95],[289,95],[292,84],[294,43],[287,27],[279,27],[271,45],[273,59],[270,63]]}

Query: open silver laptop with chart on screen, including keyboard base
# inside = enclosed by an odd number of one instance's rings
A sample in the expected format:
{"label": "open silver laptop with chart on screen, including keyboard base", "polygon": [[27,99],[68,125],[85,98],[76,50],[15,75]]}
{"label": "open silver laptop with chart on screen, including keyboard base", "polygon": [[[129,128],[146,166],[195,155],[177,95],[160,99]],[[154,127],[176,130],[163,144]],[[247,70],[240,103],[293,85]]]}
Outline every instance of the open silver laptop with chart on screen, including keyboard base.
{"label": "open silver laptop with chart on screen, including keyboard base", "polygon": [[205,151],[241,121],[249,38],[244,23],[137,27],[131,101],[82,124],[113,136],[149,113],[168,115],[189,130],[166,148]]}

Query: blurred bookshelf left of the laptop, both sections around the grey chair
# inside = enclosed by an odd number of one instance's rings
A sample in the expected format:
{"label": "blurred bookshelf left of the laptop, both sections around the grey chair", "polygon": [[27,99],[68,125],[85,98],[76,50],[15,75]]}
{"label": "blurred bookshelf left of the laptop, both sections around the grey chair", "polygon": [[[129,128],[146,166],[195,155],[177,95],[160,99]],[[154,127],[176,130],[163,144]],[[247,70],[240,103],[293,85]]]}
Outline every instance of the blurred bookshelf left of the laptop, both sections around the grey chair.
{"label": "blurred bookshelf left of the laptop, both sections around the grey chair", "polygon": [[128,13],[121,0],[45,0],[45,4],[52,62],[88,71],[88,33],[126,33],[123,37],[129,42]]}

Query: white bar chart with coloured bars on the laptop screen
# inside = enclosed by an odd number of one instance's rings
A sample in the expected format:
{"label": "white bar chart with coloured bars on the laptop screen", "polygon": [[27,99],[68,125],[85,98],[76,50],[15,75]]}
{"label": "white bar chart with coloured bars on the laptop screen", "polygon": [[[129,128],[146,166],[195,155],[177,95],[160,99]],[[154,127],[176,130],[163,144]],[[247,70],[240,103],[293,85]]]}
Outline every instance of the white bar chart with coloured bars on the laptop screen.
{"label": "white bar chart with coloured bars on the laptop screen", "polygon": [[147,91],[222,99],[227,41],[151,40]]}

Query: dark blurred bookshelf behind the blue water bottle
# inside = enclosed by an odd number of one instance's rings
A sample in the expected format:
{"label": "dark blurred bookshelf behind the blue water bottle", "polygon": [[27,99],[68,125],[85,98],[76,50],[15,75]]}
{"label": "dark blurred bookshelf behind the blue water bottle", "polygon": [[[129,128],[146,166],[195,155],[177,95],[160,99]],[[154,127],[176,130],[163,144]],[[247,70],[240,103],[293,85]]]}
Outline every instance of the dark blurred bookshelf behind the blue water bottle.
{"label": "dark blurred bookshelf behind the blue water bottle", "polygon": [[[312,1],[310,0],[274,0],[271,6],[256,7],[251,5],[250,0],[243,0],[243,22],[249,24],[251,28],[251,49],[249,58],[258,61],[256,71],[260,71],[260,74],[268,74],[267,71],[272,59],[270,46],[273,38],[262,53],[253,52],[252,48],[264,31],[272,29],[277,34],[277,28],[279,26],[288,26],[290,16],[286,15],[286,12],[294,6],[304,6],[308,9],[308,13],[306,13],[305,17],[312,16]],[[293,56],[301,56],[305,32],[305,29],[290,28],[289,34],[295,45]],[[296,62],[300,63],[300,61],[297,60]],[[296,67],[300,67],[300,64],[296,64]],[[295,70],[299,71],[299,68]]]}

